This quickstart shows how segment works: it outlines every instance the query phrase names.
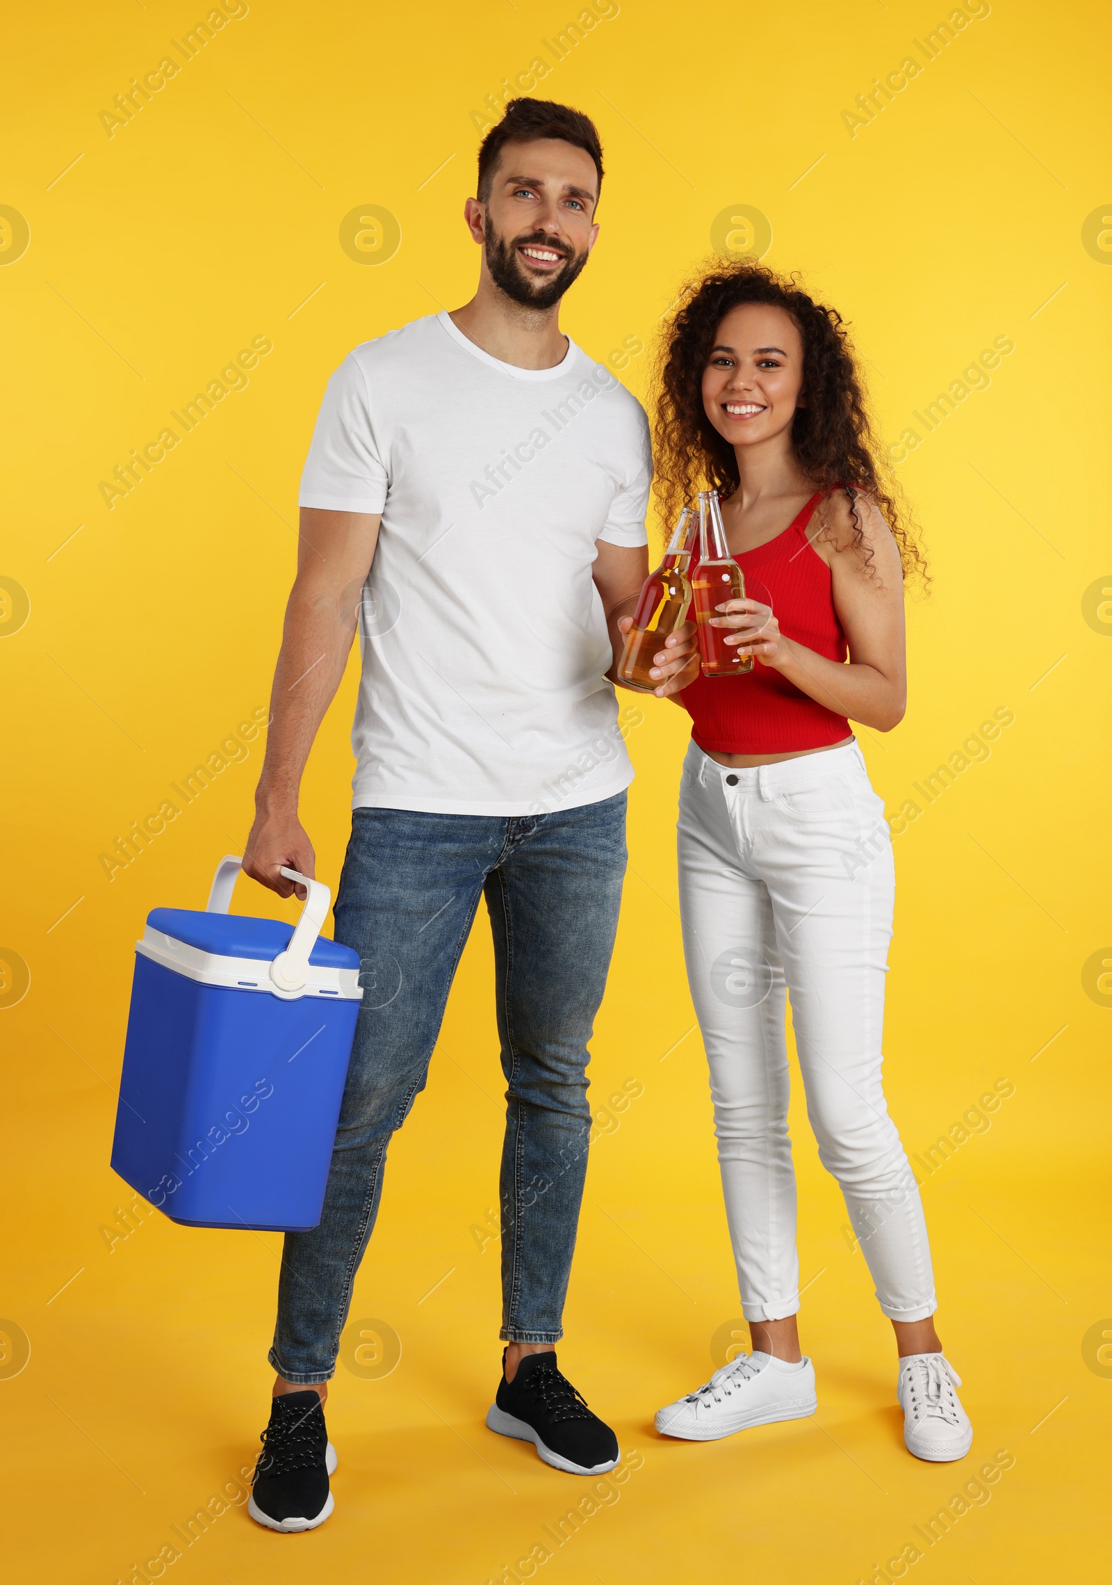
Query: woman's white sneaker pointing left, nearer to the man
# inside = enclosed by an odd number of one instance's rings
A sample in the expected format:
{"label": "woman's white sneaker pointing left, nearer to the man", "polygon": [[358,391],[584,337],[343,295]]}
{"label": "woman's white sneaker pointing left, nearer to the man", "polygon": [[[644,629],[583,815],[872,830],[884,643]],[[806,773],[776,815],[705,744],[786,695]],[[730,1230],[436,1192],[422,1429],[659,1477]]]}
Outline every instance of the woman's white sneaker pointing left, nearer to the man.
{"label": "woman's white sneaker pointing left, nearer to the man", "polygon": [[754,1350],[714,1371],[699,1392],[657,1409],[656,1428],[664,1436],[713,1442],[749,1425],[802,1420],[817,1407],[814,1366],[808,1358],[787,1365]]}

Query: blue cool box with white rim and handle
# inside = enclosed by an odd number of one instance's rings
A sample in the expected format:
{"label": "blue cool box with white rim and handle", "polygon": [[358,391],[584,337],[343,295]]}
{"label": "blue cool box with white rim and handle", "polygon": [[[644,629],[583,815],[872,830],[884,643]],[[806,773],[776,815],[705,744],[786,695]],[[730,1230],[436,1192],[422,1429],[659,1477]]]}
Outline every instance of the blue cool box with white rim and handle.
{"label": "blue cool box with white rim and handle", "polygon": [[306,1232],[320,1222],[363,991],[360,954],[317,932],[209,908],[154,908],[136,941],[112,1168],[174,1222]]}

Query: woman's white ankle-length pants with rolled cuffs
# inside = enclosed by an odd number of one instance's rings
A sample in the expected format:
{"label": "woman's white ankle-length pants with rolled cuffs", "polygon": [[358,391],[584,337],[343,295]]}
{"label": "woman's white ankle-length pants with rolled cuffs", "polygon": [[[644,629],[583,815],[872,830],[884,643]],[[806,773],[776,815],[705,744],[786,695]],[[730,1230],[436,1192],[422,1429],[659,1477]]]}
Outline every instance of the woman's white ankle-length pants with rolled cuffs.
{"label": "woman's white ankle-length pants with rolled cuffs", "polygon": [[919,1189],[881,1084],[893,892],[884,800],[855,742],[749,770],[691,745],[683,940],[746,1320],[800,1308],[786,986],[819,1159],[841,1184],[881,1309],[935,1312]]}

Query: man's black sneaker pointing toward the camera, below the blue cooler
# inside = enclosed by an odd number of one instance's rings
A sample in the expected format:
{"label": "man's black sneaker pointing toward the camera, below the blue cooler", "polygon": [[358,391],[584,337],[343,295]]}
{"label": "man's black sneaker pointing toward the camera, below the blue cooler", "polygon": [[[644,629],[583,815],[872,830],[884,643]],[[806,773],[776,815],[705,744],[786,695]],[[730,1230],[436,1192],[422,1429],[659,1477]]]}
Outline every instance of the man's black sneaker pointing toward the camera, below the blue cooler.
{"label": "man's black sneaker pointing toward the camera, below the blue cooler", "polygon": [[323,1525],[334,1507],[328,1477],[336,1469],[336,1449],[328,1441],[320,1393],[310,1387],[271,1398],[271,1423],[260,1442],[250,1517],[287,1534]]}

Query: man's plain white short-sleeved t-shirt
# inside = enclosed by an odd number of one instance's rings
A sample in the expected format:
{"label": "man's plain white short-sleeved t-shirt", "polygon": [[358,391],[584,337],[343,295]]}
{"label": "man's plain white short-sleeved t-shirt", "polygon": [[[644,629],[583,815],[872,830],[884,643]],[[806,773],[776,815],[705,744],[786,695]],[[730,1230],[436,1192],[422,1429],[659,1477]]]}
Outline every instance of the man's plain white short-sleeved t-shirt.
{"label": "man's plain white short-sleeved t-shirt", "polygon": [[649,477],[640,403],[573,342],[518,369],[445,312],[348,353],[299,502],[382,512],[355,808],[535,815],[629,786],[591,567],[597,539],[646,544]]}

